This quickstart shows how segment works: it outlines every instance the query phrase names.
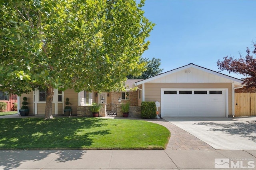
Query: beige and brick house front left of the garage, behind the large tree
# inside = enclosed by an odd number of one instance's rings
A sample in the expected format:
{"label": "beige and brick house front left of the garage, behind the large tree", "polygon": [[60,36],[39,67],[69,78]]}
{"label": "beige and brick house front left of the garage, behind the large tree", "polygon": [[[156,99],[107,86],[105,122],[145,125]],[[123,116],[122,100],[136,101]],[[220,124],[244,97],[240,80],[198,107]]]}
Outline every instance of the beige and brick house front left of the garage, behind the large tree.
{"label": "beige and brick house front left of the garage, behind the large tree", "polygon": [[[68,97],[72,104],[72,115],[77,115],[78,106],[91,105],[92,103],[105,103],[107,111],[116,111],[116,105],[118,99],[122,100],[122,103],[129,102],[130,106],[140,106],[142,102],[141,91],[133,91],[136,81],[141,79],[128,79],[125,87],[126,91],[118,92],[90,92],[80,91],[75,92],[74,89],[67,89],[65,91],[58,91],[54,89],[54,97],[52,102],[52,115],[60,116],[64,113],[65,100]],[[22,106],[23,97],[28,98],[28,107],[30,109],[29,115],[44,115],[46,105],[46,89],[38,89],[27,94],[22,94],[18,97],[18,109]],[[103,100],[102,100],[103,99]]]}

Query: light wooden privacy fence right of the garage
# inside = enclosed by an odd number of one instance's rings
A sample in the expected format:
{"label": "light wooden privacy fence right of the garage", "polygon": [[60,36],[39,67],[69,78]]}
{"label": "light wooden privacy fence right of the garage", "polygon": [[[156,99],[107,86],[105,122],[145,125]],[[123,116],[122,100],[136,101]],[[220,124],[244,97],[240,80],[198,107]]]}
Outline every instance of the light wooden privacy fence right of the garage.
{"label": "light wooden privacy fence right of the garage", "polygon": [[235,93],[235,115],[256,116],[256,93]]}

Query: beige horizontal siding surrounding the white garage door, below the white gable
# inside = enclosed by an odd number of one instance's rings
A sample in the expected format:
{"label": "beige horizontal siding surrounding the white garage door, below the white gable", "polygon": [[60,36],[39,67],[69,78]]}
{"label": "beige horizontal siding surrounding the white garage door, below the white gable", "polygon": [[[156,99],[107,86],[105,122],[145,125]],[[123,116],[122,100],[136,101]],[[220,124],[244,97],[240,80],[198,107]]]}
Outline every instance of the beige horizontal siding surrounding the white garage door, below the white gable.
{"label": "beige horizontal siding surrounding the white garage door, below the white gable", "polygon": [[[232,115],[232,83],[145,83],[145,101],[161,102],[161,89],[228,89],[228,115]],[[161,114],[161,107],[158,111]]]}

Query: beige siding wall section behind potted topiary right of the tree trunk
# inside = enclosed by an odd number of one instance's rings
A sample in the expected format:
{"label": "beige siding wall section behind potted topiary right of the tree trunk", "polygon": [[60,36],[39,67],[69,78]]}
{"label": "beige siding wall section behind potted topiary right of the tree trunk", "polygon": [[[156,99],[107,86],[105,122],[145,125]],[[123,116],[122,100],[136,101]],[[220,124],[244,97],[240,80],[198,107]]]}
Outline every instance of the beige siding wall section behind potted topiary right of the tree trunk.
{"label": "beige siding wall section behind potted topiary right of the tree trunk", "polygon": [[74,91],[74,89],[67,89],[64,91],[64,107],[65,102],[66,102],[66,98],[69,98],[69,102],[72,103],[72,115],[76,115],[77,114],[77,106],[78,106],[78,93]]}

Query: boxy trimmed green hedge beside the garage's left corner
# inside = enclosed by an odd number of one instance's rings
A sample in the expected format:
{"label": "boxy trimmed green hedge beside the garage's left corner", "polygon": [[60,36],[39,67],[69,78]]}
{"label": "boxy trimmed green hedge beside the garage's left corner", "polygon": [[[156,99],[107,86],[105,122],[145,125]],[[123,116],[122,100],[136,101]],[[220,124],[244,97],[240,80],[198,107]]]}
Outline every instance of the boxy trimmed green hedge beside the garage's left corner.
{"label": "boxy trimmed green hedge beside the garage's left corner", "polygon": [[156,103],[153,101],[143,101],[141,103],[141,117],[142,119],[156,118]]}

